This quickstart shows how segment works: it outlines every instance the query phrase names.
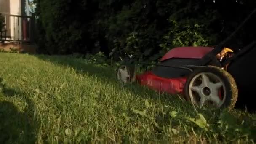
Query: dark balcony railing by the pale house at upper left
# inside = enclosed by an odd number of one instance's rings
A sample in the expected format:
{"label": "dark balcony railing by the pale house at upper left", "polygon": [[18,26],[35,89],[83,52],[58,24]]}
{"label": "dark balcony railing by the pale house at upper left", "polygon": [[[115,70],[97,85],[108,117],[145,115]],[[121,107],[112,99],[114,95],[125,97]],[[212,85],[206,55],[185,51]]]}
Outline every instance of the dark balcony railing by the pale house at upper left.
{"label": "dark balcony railing by the pale house at upper left", "polygon": [[0,13],[3,21],[0,26],[0,42],[33,42],[34,17]]}

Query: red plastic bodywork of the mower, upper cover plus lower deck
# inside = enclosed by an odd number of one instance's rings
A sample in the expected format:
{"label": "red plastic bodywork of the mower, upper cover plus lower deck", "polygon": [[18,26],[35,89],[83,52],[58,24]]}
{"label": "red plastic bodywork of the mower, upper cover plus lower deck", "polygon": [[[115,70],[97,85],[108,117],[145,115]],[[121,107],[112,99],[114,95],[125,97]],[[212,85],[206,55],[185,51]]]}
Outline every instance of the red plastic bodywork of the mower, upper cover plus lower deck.
{"label": "red plastic bodywork of the mower, upper cover plus lower deck", "polygon": [[[205,56],[212,50],[212,47],[173,48],[171,51],[169,51],[162,57],[161,61],[171,58],[201,59],[203,58],[203,56]],[[154,75],[151,71],[149,71],[141,75],[136,75],[136,80],[141,85],[145,85],[158,92],[182,94],[187,77],[163,78]]]}

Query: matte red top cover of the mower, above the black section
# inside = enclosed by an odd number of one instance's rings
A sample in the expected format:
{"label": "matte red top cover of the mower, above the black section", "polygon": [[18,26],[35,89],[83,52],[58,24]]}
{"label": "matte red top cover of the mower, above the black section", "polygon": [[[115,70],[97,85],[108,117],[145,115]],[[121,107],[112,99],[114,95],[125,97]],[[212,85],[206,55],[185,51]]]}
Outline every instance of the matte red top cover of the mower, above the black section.
{"label": "matte red top cover of the mower, above the black section", "polygon": [[178,47],[171,49],[166,53],[161,61],[171,58],[184,58],[184,59],[201,59],[207,53],[211,52],[213,47]]}

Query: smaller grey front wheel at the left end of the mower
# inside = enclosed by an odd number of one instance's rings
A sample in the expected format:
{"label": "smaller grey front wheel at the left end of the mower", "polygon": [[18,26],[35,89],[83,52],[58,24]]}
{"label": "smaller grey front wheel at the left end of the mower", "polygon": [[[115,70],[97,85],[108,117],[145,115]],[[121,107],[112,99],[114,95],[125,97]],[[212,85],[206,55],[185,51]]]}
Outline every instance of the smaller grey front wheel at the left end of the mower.
{"label": "smaller grey front wheel at the left end of the mower", "polygon": [[132,83],[135,81],[135,67],[128,65],[121,65],[117,69],[117,80],[120,83]]}

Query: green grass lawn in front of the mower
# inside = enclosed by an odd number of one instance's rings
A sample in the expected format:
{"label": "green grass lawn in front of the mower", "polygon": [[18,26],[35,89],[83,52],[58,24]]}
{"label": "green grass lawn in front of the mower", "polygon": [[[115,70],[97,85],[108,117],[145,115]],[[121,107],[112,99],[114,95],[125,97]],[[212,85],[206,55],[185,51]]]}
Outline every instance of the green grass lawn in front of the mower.
{"label": "green grass lawn in front of the mower", "polygon": [[0,65],[1,144],[255,142],[255,115],[120,85],[114,67],[17,53],[0,53]]}

